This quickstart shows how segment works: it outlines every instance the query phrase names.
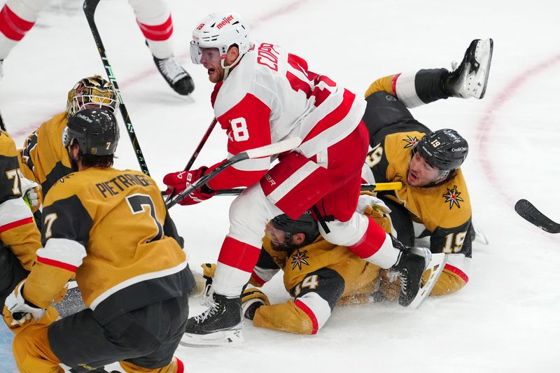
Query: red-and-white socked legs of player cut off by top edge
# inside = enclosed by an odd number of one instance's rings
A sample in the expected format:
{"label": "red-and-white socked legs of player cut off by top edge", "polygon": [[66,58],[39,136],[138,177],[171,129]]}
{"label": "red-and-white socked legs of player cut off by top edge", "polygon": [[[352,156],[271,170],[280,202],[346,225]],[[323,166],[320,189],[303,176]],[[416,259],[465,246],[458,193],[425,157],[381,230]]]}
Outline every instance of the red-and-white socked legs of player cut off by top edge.
{"label": "red-and-white socked legs of player cut off by top edge", "polygon": [[[39,13],[48,3],[50,0],[8,0],[0,10],[0,77],[3,60],[34,26]],[[169,5],[165,0],[129,0],[129,3],[152,52],[155,66],[167,84],[179,94],[193,92],[193,78],[174,57]]]}

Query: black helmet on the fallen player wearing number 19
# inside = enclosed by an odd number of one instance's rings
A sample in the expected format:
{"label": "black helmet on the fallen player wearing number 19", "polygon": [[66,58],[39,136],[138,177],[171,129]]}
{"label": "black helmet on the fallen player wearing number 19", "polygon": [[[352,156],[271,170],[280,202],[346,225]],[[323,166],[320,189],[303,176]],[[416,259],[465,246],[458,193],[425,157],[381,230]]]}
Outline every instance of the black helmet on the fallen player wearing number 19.
{"label": "black helmet on the fallen player wearing number 19", "polygon": [[465,161],[468,143],[454,129],[438,129],[416,143],[416,152],[432,166],[442,171],[454,171]]}

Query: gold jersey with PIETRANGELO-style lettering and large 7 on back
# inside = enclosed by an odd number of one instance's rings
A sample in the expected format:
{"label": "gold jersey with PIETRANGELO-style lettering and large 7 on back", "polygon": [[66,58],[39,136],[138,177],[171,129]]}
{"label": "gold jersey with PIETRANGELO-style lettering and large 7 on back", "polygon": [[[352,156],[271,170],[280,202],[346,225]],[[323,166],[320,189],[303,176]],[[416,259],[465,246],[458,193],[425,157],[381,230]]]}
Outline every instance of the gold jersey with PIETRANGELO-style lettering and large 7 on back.
{"label": "gold jersey with PIETRANGELO-style lettering and large 7 on back", "polygon": [[39,307],[73,276],[101,323],[193,286],[160,189],[139,171],[92,167],[65,176],[46,196],[42,220],[44,248],[24,288]]}

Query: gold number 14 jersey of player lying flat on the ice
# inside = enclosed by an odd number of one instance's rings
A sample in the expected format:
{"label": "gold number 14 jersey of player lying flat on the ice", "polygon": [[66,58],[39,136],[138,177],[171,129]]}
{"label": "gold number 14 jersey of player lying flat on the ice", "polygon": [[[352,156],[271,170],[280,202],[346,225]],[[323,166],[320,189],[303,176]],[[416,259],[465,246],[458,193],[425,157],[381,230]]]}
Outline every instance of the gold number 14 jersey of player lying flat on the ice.
{"label": "gold number 14 jersey of player lying flat on the ice", "polygon": [[259,307],[253,325],[298,334],[318,332],[336,304],[369,301],[380,271],[323,237],[289,255],[275,251],[265,237],[250,283],[262,286],[280,269],[284,286],[294,299]]}

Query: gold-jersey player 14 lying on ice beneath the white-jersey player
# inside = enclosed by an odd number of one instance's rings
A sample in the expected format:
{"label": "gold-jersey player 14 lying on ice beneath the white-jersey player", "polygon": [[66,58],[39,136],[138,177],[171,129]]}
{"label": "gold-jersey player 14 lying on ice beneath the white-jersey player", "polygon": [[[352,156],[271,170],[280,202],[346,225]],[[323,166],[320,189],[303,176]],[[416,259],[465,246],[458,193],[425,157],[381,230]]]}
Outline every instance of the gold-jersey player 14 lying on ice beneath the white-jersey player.
{"label": "gold-jersey player 14 lying on ice beneath the white-jersey player", "polygon": [[[361,195],[358,212],[384,224],[387,210],[383,206],[376,197]],[[246,288],[241,295],[242,311],[255,326],[314,335],[323,328],[335,306],[379,300],[381,292],[393,290],[391,284],[381,283],[381,274],[386,270],[359,258],[345,246],[323,239],[310,211],[295,220],[286,214],[276,216],[265,232],[249,285],[260,288],[283,271],[284,287],[293,299],[270,304],[261,290]],[[215,265],[202,267],[209,281]],[[387,289],[381,288],[385,285]],[[401,291],[399,286],[395,297]]]}

